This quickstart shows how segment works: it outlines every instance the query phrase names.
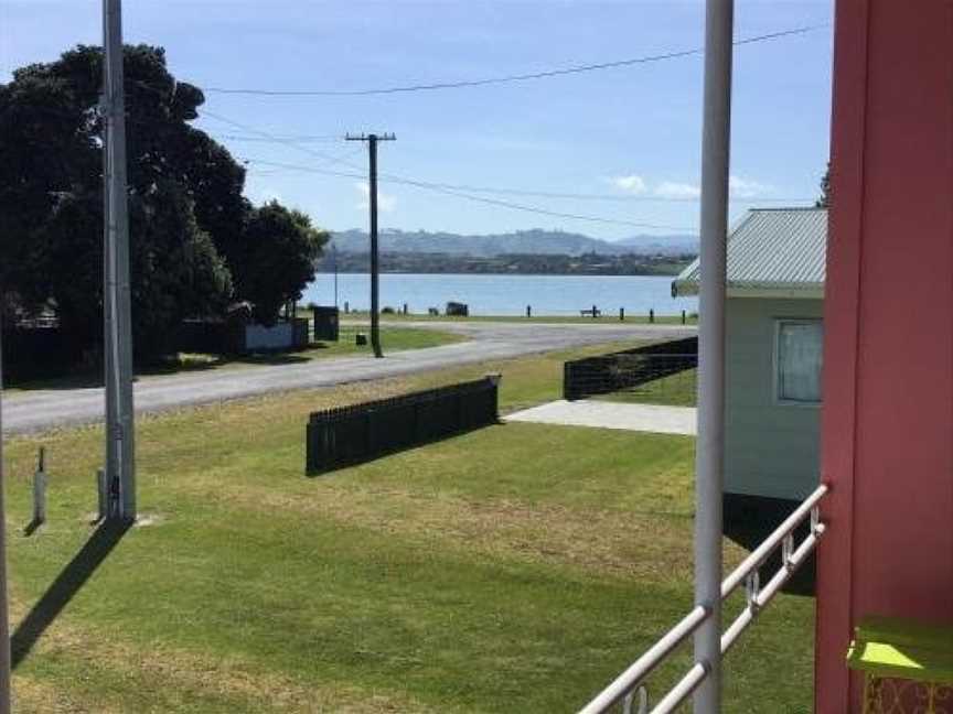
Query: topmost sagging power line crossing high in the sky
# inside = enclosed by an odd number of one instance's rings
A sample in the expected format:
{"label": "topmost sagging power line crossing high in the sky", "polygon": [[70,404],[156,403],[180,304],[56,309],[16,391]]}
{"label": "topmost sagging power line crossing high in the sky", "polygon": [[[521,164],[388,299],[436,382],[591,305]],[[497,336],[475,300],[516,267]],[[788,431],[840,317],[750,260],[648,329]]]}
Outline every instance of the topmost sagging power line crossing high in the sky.
{"label": "topmost sagging power line crossing high in the sky", "polygon": [[[802,35],[809,32],[814,32],[828,28],[829,23],[805,25],[793,28],[791,30],[781,30],[779,32],[770,32],[767,34],[754,35],[738,40],[734,44],[736,47],[756,44],[759,42],[769,42],[790,37],[793,35]],[[642,57],[632,57],[629,60],[615,60],[612,62],[600,62],[595,64],[575,65],[563,67],[559,69],[547,69],[544,72],[533,72],[527,74],[512,74],[500,77],[486,77],[482,79],[464,79],[460,82],[437,82],[432,84],[411,84],[396,87],[383,87],[371,89],[261,89],[261,88],[233,88],[233,87],[203,87],[203,91],[213,94],[231,94],[231,95],[256,95],[264,97],[366,97],[370,95],[388,95],[388,94],[406,94],[411,91],[433,91],[437,89],[459,89],[463,87],[482,87],[488,85],[507,84],[513,82],[528,82],[534,79],[548,79],[550,77],[560,77],[565,75],[582,74],[588,72],[599,72],[602,69],[615,69],[619,67],[631,67],[633,65],[653,64],[667,60],[678,60],[681,57],[689,57],[704,54],[704,47],[695,47],[692,50],[681,50],[675,52],[665,52],[654,55],[645,55]]]}

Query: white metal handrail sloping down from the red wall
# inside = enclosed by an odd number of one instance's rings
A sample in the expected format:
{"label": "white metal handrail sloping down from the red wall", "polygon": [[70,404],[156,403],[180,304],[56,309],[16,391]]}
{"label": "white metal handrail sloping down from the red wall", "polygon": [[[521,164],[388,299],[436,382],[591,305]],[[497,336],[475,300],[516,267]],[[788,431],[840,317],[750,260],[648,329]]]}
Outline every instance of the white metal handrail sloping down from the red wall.
{"label": "white metal handrail sloping down from the red wall", "polygon": [[[828,490],[829,486],[826,484],[818,486],[721,583],[722,602],[742,584],[747,599],[745,609],[721,635],[722,657],[731,649],[741,632],[754,620],[758,613],[771,602],[784,583],[804,564],[804,561],[816,548],[817,541],[825,531],[825,526],[821,522],[820,501]],[[795,547],[794,531],[807,519],[811,523],[810,532]],[[768,584],[761,587],[759,571],[779,548],[781,549],[781,566],[768,581]],[[649,692],[645,680],[678,646],[692,637],[695,630],[708,620],[710,615],[709,608],[702,605],[696,606],[642,657],[635,660],[629,669],[583,706],[579,714],[603,714],[611,711],[617,704],[622,705],[623,714],[649,714],[650,712],[651,714],[667,714],[674,712],[708,677],[709,663],[695,662],[692,669],[651,710],[649,708]]]}

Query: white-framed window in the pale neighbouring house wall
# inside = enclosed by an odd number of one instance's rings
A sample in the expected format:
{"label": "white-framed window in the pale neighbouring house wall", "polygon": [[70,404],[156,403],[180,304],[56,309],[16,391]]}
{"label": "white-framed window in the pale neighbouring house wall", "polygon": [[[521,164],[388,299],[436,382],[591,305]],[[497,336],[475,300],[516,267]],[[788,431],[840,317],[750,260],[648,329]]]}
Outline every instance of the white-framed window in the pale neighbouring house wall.
{"label": "white-framed window in the pale neighbouring house wall", "polygon": [[821,402],[824,326],[820,320],[779,320],[777,394],[781,402]]}

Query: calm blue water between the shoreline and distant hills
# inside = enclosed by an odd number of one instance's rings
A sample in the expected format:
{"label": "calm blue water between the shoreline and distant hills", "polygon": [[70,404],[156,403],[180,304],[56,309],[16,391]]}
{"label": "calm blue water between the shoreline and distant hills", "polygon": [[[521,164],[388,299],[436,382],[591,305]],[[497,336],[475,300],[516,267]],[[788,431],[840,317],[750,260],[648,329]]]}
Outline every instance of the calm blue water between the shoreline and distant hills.
{"label": "calm blue water between the shoreline and distant hills", "polygon": [[[607,313],[624,307],[627,313],[658,315],[698,309],[695,298],[672,298],[672,278],[642,275],[381,275],[381,307],[399,310],[407,303],[410,312],[426,313],[448,301],[470,305],[471,315],[522,315],[526,305],[534,315],[570,315],[597,305]],[[352,310],[371,304],[367,274],[338,275],[338,304],[347,301]],[[304,291],[302,302],[334,304],[334,275],[319,273]]]}

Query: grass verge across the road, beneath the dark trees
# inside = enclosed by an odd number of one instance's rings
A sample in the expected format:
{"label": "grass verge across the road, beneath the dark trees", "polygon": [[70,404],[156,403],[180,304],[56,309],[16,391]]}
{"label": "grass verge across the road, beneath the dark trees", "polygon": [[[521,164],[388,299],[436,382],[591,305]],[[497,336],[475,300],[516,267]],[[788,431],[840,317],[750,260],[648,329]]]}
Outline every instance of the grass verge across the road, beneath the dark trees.
{"label": "grass verge across the road, beneath the dark trees", "polygon": [[[365,333],[368,344],[357,346],[355,335]],[[467,337],[439,328],[420,328],[396,325],[384,325],[381,328],[381,347],[385,354],[407,349],[424,349],[439,347],[453,343],[465,342]],[[179,354],[165,359],[159,365],[146,365],[136,370],[137,378],[149,378],[160,375],[175,375],[185,371],[204,371],[208,369],[235,369],[253,365],[293,365],[312,359],[328,357],[373,356],[367,328],[358,325],[341,325],[338,342],[319,342],[308,349],[293,353],[260,353],[253,355],[202,355]],[[103,385],[103,375],[78,372],[68,377],[55,377],[10,385],[10,391],[29,391],[35,389],[69,389],[73,387],[95,387]]]}

